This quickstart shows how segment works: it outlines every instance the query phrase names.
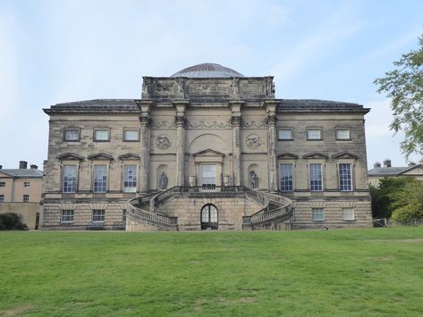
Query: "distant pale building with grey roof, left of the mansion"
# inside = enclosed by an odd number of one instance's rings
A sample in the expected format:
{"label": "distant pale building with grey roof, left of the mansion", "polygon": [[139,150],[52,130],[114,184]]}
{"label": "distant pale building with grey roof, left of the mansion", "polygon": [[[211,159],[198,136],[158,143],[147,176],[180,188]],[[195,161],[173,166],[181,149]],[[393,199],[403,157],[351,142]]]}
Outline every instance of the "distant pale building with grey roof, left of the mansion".
{"label": "distant pale building with grey roof, left of the mansion", "polygon": [[38,228],[43,172],[21,161],[19,169],[0,165],[0,213],[17,213],[29,229]]}

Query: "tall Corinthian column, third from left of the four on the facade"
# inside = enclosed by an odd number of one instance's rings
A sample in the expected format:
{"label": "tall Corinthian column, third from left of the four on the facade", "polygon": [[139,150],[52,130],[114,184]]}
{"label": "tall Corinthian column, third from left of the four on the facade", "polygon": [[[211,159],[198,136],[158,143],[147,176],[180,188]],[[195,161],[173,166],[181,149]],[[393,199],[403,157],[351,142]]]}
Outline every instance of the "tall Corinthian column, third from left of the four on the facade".
{"label": "tall Corinthian column, third from left of the four on the facade", "polygon": [[231,101],[233,129],[233,185],[241,186],[241,105],[242,101]]}

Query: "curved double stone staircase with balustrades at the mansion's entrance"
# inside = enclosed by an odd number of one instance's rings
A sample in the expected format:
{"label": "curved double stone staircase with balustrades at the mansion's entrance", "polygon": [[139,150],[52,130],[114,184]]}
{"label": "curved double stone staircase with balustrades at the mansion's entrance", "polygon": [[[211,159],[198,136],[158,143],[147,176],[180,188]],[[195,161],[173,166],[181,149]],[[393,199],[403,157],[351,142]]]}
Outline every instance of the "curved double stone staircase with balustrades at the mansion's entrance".
{"label": "curved double stone staircase with balustrades at the mansion's entrance", "polygon": [[[162,213],[160,206],[178,196],[190,198],[231,197],[243,195],[253,199],[262,208],[250,216],[242,217],[242,229],[290,229],[293,208],[286,197],[253,190],[244,186],[225,187],[173,187],[131,199],[127,209],[127,230],[178,230],[177,217]],[[288,222],[287,222],[288,221]],[[137,227],[137,229],[135,229]]]}

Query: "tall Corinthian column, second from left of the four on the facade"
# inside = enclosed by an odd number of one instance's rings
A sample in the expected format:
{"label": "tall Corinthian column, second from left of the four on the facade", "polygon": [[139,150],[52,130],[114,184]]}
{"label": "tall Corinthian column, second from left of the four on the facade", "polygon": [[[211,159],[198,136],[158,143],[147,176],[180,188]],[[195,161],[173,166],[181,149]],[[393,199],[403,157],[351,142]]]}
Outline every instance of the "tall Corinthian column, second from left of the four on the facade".
{"label": "tall Corinthian column, second from left of the four on the facade", "polygon": [[176,185],[185,186],[185,101],[173,102],[176,106]]}

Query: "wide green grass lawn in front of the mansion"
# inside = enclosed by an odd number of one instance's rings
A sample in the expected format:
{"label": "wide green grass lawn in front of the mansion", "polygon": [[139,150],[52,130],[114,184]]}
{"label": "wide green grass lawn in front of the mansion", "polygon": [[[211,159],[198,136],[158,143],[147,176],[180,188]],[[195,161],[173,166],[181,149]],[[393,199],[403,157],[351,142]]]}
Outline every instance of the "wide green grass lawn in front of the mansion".
{"label": "wide green grass lawn in front of the mansion", "polygon": [[423,229],[0,232],[0,315],[423,315]]}

